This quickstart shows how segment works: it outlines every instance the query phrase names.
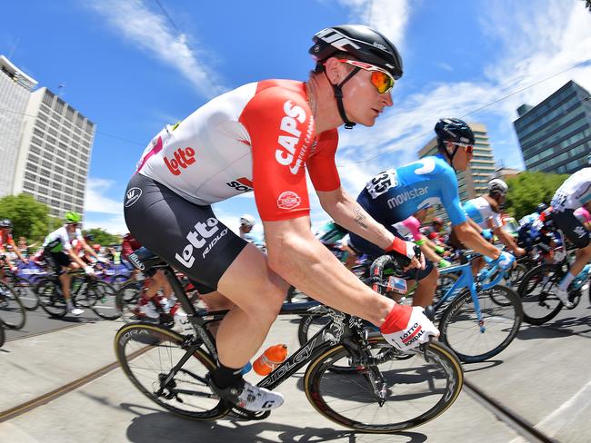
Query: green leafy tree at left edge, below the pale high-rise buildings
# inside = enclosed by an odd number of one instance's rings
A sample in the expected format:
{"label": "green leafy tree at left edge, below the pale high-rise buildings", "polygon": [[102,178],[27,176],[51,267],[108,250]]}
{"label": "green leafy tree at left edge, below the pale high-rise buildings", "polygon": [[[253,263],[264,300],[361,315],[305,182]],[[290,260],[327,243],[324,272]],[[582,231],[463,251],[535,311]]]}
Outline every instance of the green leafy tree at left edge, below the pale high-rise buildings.
{"label": "green leafy tree at left edge, below the pale high-rise buildings", "polygon": [[0,199],[0,218],[13,222],[15,240],[25,236],[29,242],[45,239],[51,219],[47,205],[25,193]]}

